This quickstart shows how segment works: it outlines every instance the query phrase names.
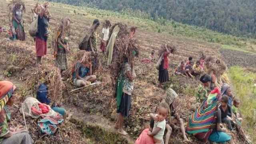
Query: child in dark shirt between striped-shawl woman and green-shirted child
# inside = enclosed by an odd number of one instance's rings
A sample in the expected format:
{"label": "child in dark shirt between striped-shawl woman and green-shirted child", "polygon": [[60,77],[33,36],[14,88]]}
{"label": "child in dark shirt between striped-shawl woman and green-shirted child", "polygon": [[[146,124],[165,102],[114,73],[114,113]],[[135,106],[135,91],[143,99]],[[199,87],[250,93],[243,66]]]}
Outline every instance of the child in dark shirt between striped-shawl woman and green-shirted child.
{"label": "child in dark shirt between striped-shawl woman and green-shirted child", "polygon": [[[232,113],[231,106],[228,104],[228,96],[223,95],[220,100],[220,111],[221,111],[221,121],[228,124],[228,129],[233,130],[231,121],[234,122],[234,116]],[[227,117],[228,113],[231,115],[231,120]]]}

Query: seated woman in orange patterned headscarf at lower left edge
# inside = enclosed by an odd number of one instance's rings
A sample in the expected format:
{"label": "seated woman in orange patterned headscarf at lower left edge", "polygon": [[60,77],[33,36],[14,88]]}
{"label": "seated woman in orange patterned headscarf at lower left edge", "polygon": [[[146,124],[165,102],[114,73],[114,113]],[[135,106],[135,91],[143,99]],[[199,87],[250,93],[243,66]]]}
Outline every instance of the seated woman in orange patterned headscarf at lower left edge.
{"label": "seated woman in orange patterned headscarf at lower left edge", "polygon": [[16,99],[16,86],[9,81],[0,81],[0,143],[1,144],[33,144],[33,139],[23,126],[9,127],[11,117],[8,106]]}

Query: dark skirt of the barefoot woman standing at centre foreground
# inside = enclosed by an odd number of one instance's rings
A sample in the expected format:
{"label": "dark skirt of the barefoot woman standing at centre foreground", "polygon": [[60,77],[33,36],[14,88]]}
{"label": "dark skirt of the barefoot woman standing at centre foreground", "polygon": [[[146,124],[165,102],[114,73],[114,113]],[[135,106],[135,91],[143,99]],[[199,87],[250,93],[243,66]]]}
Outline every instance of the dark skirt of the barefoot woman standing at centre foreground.
{"label": "dark skirt of the barefoot woman standing at centre foreground", "polygon": [[128,116],[130,109],[131,109],[131,95],[123,92],[119,110],[117,110],[116,112],[121,113],[123,116]]}

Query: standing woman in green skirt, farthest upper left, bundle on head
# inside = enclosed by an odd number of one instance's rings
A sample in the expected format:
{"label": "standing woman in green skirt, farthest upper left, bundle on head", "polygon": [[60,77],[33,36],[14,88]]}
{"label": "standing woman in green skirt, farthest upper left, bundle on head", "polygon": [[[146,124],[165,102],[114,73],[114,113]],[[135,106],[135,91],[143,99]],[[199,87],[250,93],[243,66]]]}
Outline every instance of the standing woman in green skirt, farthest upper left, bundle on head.
{"label": "standing woman in green skirt, farthest upper left, bundle on head", "polygon": [[[22,10],[20,10],[21,4],[23,6]],[[16,38],[18,40],[25,40],[25,32],[22,19],[23,12],[25,11],[26,8],[23,2],[17,2],[12,11],[12,25],[14,26],[17,33]]]}

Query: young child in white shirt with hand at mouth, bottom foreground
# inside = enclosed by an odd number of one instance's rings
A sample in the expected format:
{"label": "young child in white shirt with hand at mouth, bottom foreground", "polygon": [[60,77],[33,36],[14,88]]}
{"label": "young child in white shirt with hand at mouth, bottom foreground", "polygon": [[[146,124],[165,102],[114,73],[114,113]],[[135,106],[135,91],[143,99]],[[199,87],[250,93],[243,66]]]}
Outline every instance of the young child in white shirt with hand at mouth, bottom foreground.
{"label": "young child in white shirt with hand at mouth, bottom foreground", "polygon": [[169,106],[166,102],[161,102],[158,106],[157,114],[150,114],[154,120],[154,127],[148,131],[148,136],[152,136],[155,144],[164,144],[164,130],[166,126],[165,118],[168,115]]}

